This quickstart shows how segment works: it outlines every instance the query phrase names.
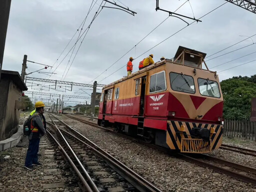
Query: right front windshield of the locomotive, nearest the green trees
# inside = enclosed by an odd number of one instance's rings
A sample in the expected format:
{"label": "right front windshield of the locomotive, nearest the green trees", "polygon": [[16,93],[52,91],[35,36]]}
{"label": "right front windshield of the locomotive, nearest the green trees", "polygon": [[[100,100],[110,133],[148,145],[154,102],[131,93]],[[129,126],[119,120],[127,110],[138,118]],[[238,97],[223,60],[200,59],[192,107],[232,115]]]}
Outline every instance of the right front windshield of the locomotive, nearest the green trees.
{"label": "right front windshield of the locomotive, nearest the green trees", "polygon": [[213,80],[198,78],[197,79],[199,92],[201,95],[220,97],[220,92],[218,88],[218,83]]}

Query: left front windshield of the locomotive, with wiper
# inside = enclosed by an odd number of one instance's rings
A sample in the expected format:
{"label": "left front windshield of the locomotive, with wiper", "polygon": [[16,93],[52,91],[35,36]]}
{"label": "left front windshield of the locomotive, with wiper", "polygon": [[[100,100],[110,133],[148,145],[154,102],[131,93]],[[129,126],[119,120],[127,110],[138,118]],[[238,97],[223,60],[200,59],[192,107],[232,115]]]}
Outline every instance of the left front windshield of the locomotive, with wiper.
{"label": "left front windshield of the locomotive, with wiper", "polygon": [[170,86],[176,91],[195,93],[193,77],[182,72],[170,72]]}

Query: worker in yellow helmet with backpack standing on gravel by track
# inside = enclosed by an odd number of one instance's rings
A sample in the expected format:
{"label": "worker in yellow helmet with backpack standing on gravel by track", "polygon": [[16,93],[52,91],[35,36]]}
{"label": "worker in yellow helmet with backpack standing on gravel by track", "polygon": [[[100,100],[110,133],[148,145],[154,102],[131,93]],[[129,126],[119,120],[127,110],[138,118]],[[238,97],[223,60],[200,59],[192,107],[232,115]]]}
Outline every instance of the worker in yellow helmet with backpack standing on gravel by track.
{"label": "worker in yellow helmet with backpack standing on gravel by track", "polygon": [[26,159],[24,168],[27,170],[33,170],[33,165],[42,165],[38,161],[38,150],[39,150],[39,142],[40,137],[43,136],[46,132],[46,121],[43,116],[43,107],[45,104],[42,101],[37,101],[34,104],[35,111],[31,112],[31,116],[29,116],[27,123],[25,126],[29,131],[28,134],[28,149],[26,152]]}

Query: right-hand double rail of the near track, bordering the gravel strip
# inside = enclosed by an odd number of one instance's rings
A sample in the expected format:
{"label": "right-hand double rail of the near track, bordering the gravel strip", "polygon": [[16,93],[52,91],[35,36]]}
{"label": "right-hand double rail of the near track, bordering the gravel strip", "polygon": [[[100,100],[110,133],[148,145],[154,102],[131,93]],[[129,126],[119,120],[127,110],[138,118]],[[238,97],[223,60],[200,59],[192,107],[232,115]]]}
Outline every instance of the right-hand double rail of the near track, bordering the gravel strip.
{"label": "right-hand double rail of the near track, bordering the gravel strip", "polygon": [[[52,115],[54,116],[54,115]],[[54,116],[55,117],[55,116]],[[55,117],[58,119],[57,117]],[[97,146],[95,143],[87,139],[85,136],[83,136],[81,133],[70,127],[68,124],[63,122],[62,120],[58,119],[61,123],[63,123],[66,127],[74,131],[76,134],[81,136],[83,139],[86,140],[86,142],[82,141],[81,139],[77,138],[81,143],[85,144],[86,146],[90,147],[95,153],[97,153],[101,158],[103,158],[109,166],[111,166],[116,172],[118,172],[121,176],[123,176],[128,182],[130,182],[134,187],[136,187],[139,191],[156,191],[161,192],[159,188],[157,188],[155,185],[153,185],[148,180],[144,179],[142,176],[134,172],[132,169],[127,167],[125,164],[117,160],[115,157],[107,153],[105,150]],[[63,130],[63,129],[61,129]],[[67,134],[75,137],[74,135],[70,134],[69,132],[63,130]]]}

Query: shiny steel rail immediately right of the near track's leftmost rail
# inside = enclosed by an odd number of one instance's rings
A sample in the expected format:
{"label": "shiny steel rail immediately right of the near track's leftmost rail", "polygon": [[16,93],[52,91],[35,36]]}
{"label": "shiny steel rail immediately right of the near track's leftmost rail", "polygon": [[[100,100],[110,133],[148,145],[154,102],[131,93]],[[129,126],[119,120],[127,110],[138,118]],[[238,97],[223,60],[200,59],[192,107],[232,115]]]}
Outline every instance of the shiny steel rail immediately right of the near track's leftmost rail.
{"label": "shiny steel rail immediately right of the near track's leftmost rail", "polygon": [[[52,115],[52,114],[51,114]],[[53,116],[53,115],[52,115]],[[50,117],[50,116],[49,116]],[[56,117],[55,117],[56,118]],[[52,120],[52,118],[50,117],[50,119]],[[85,175],[85,178],[87,179],[90,187],[92,188],[93,191],[99,192],[96,184],[93,182],[93,180],[91,179],[91,177],[89,176],[88,172],[85,170],[84,166],[82,165],[81,161],[79,160],[79,158],[76,156],[76,154],[74,153],[73,149],[71,148],[71,146],[69,145],[69,143],[67,142],[67,140],[65,139],[65,137],[63,136],[63,134],[61,133],[61,131],[59,130],[58,126],[55,124],[55,122],[52,120],[55,128],[57,129],[58,133],[60,134],[60,136],[62,137],[63,141],[65,142],[66,146],[68,147],[69,151],[71,152],[72,156],[75,158],[76,162],[79,164],[80,168],[82,169],[82,172]]]}

